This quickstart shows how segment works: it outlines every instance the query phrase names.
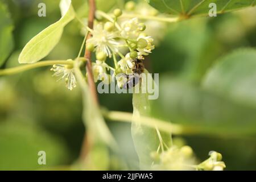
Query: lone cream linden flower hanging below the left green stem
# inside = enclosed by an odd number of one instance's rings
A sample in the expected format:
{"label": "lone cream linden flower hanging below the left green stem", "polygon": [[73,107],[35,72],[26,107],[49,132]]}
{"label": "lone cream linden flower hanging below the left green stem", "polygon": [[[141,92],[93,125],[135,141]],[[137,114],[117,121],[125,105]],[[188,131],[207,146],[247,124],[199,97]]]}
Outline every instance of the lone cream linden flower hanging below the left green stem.
{"label": "lone cream linden flower hanging below the left green stem", "polygon": [[[76,87],[76,77],[73,67],[69,65],[53,65],[51,71],[55,72],[52,76],[61,76],[59,80],[63,79],[66,82],[66,87],[73,90]],[[57,80],[57,81],[59,81]]]}

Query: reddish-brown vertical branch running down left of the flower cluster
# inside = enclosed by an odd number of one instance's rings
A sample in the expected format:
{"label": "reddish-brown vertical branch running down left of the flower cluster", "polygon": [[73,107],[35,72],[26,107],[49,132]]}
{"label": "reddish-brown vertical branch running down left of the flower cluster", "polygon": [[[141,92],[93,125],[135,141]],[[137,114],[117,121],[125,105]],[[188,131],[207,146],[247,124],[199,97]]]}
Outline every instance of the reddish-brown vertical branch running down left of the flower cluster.
{"label": "reddish-brown vertical branch running down left of the flower cluster", "polygon": [[[93,29],[93,21],[94,21],[94,15],[96,11],[96,3],[95,0],[88,0],[89,3],[89,15],[88,15],[88,27]],[[89,32],[86,40],[90,39],[92,37],[92,34]],[[94,103],[98,106],[98,97],[97,97],[97,90],[96,90],[96,85],[94,83],[94,78],[93,78],[93,72],[92,72],[92,52],[88,51],[85,49],[85,59],[87,60],[86,64],[86,73],[87,73],[87,78],[88,78],[88,85],[90,89],[90,94],[92,94],[92,98]],[[90,148],[92,146],[92,141],[89,139],[89,135],[85,133],[84,135],[84,140],[82,142],[82,148],[80,152],[80,160],[82,162],[85,162],[86,156],[90,151]]]}

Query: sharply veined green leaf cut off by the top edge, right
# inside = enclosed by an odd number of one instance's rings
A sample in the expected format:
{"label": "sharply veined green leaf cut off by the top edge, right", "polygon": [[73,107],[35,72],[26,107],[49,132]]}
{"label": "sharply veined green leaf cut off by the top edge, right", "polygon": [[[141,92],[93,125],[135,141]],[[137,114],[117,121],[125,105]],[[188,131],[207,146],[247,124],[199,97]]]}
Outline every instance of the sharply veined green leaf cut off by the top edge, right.
{"label": "sharply veined green leaf cut off by the top edge, right", "polygon": [[150,0],[150,5],[172,15],[208,15],[210,3],[216,3],[217,13],[254,6],[254,0]]}

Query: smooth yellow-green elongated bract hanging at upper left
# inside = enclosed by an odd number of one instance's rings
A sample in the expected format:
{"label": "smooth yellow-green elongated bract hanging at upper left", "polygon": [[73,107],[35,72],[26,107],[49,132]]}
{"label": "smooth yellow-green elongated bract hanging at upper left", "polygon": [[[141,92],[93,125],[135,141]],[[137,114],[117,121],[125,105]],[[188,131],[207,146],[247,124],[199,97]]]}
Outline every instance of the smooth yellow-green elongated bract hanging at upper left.
{"label": "smooth yellow-green elongated bract hanging at upper left", "polygon": [[46,57],[56,46],[61,38],[64,27],[75,18],[75,11],[71,0],[61,0],[60,10],[61,19],[51,24],[26,44],[20,53],[19,63],[35,63]]}

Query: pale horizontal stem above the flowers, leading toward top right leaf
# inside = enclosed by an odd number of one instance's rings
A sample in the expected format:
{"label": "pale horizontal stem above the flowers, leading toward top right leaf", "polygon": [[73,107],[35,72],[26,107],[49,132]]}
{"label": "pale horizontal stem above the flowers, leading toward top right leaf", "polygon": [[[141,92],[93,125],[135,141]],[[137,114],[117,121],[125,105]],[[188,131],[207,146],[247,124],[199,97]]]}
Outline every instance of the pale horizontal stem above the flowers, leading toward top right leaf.
{"label": "pale horizontal stem above the flowers, leading toward top right leaf", "polygon": [[159,16],[145,16],[145,15],[140,15],[140,14],[123,14],[121,16],[122,18],[139,18],[143,20],[156,20],[159,22],[167,22],[167,23],[174,23],[178,22],[180,20],[179,17],[174,17],[174,18],[166,18],[166,17],[159,17]]}

